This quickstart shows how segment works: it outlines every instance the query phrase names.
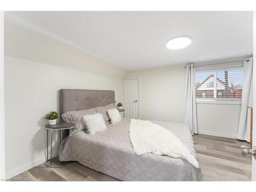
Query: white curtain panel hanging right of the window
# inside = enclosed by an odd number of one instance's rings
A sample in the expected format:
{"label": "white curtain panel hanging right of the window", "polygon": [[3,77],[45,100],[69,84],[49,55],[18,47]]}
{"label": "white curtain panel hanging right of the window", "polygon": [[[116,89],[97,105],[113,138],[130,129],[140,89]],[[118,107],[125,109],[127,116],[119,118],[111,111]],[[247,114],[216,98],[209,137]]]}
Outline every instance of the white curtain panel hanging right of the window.
{"label": "white curtain panel hanging right of the window", "polygon": [[250,109],[252,106],[252,57],[244,60],[243,95],[237,138],[250,141]]}

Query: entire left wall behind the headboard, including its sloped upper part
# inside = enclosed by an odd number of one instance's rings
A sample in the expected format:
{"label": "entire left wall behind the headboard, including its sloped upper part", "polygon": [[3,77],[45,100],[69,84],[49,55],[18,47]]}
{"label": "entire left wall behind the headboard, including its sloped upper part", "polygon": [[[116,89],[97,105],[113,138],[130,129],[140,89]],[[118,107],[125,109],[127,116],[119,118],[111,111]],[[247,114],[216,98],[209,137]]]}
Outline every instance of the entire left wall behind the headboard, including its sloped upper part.
{"label": "entire left wall behind the headboard, including its sloped upper part", "polygon": [[[5,151],[7,178],[45,160],[47,120],[59,111],[58,90],[114,90],[123,100],[126,70],[6,20]],[[59,140],[54,137],[53,152]]]}

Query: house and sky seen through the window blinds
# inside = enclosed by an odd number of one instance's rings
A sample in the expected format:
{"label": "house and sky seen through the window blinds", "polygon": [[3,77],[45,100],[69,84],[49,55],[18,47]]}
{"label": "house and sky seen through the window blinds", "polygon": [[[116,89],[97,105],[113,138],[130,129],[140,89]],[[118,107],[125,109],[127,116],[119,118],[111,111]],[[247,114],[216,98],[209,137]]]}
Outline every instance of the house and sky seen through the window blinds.
{"label": "house and sky seen through the window blinds", "polygon": [[241,99],[243,91],[243,70],[197,72],[197,98]]}

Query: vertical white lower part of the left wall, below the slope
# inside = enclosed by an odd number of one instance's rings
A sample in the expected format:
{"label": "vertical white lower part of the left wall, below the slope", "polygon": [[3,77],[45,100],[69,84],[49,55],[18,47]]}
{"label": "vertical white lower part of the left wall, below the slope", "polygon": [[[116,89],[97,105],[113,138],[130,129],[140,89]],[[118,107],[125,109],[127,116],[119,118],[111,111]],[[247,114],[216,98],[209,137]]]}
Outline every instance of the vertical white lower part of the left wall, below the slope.
{"label": "vertical white lower part of the left wall, below the slope", "polygon": [[7,173],[45,155],[44,115],[59,111],[58,90],[63,88],[114,90],[117,101],[123,97],[122,79],[5,57]]}

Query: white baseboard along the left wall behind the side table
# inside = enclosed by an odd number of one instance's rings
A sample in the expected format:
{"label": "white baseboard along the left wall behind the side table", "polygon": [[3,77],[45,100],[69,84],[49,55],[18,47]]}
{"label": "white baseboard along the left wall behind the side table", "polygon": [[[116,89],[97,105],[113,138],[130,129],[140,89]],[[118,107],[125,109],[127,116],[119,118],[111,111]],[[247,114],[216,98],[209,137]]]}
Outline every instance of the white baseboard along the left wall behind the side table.
{"label": "white baseboard along the left wall behind the side table", "polygon": [[[56,156],[58,156],[58,153],[59,153],[58,151],[52,152],[52,156],[56,157]],[[49,157],[50,157],[50,154],[49,154]],[[28,169],[31,169],[31,168],[33,168],[33,167],[35,167],[35,166],[37,166],[41,163],[44,163],[45,161],[46,161],[46,157],[45,156],[41,157],[39,159],[36,159],[35,161],[32,161],[28,164],[25,164],[25,165],[22,165],[18,168],[13,169],[10,172],[7,172],[5,177],[6,177],[6,179],[10,179],[10,178],[12,178],[12,177],[14,177],[18,174],[26,172],[26,170],[28,170]]]}

